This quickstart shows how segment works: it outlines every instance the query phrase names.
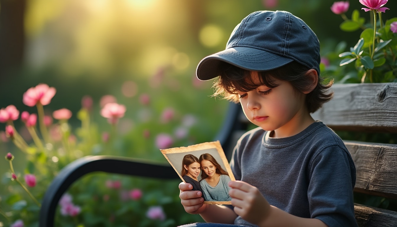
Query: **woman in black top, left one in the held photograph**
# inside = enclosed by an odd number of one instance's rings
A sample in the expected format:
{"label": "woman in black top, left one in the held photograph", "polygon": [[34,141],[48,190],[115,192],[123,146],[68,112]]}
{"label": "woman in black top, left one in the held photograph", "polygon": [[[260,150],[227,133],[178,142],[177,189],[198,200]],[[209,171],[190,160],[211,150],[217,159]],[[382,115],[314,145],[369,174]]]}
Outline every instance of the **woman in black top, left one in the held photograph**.
{"label": "woman in black top, left one in the held photograph", "polygon": [[201,191],[201,196],[203,196],[203,192],[198,182],[198,175],[200,175],[200,161],[194,155],[185,155],[182,160],[182,171],[181,176],[186,183],[189,183],[193,186],[192,190]]}

